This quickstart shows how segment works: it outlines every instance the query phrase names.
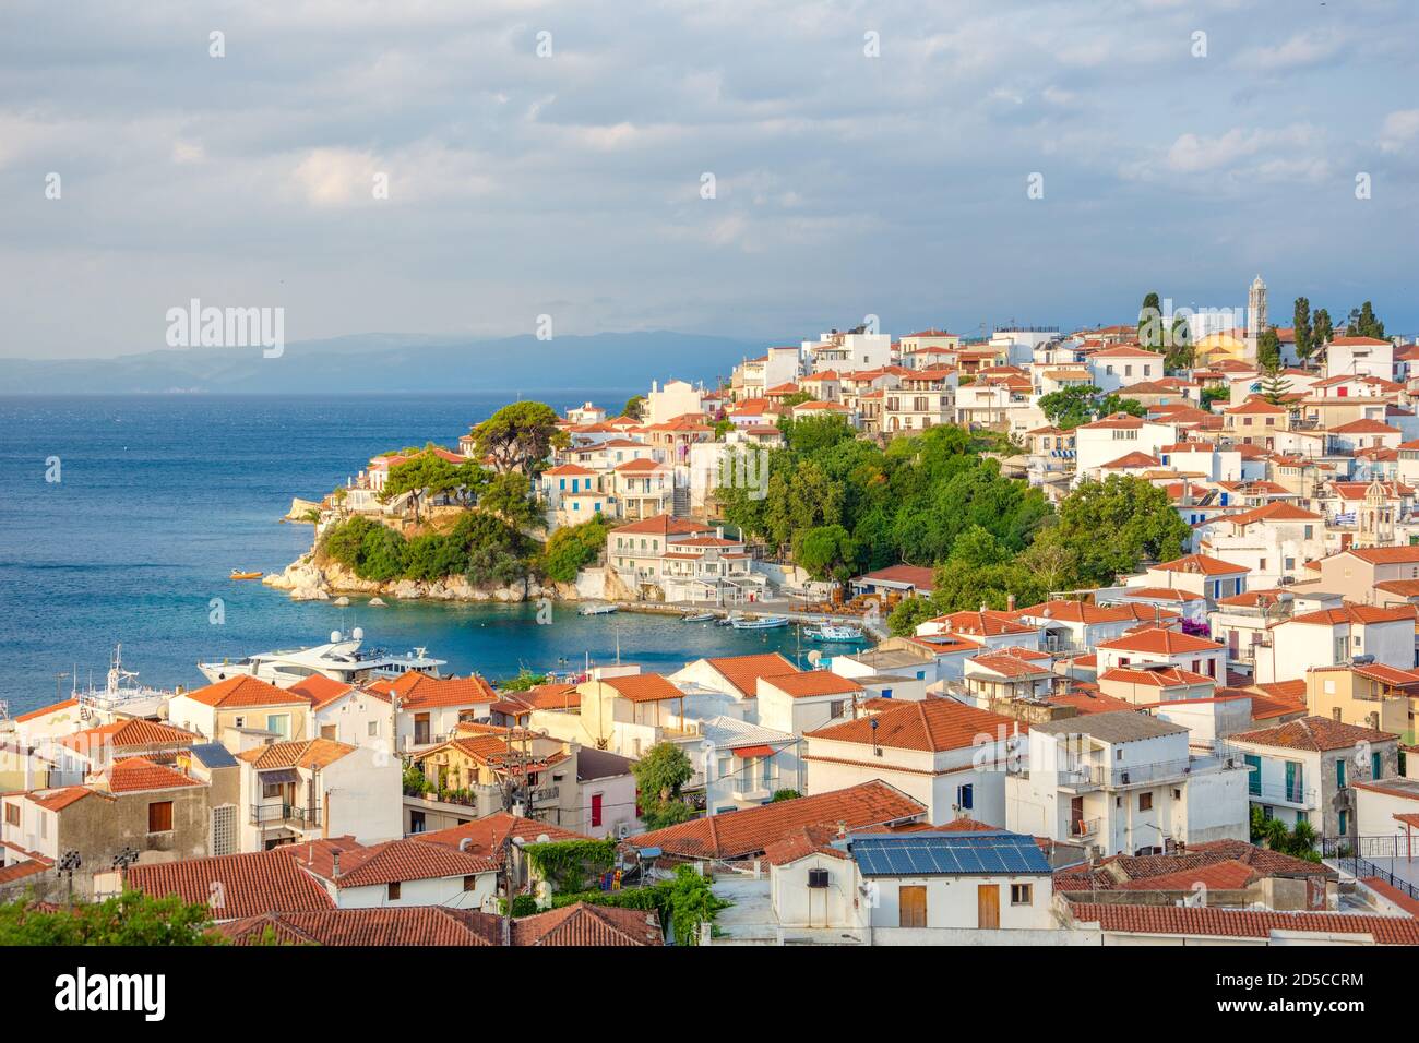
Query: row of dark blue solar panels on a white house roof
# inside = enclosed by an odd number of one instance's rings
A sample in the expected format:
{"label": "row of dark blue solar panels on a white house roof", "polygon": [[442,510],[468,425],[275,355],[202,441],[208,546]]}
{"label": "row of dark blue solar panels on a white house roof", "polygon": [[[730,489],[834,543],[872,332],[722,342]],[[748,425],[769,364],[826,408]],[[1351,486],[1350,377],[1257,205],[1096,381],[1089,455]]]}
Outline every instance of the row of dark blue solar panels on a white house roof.
{"label": "row of dark blue solar panels on a white house roof", "polygon": [[868,836],[853,840],[866,877],[1000,876],[1049,873],[1033,837],[1019,833]]}

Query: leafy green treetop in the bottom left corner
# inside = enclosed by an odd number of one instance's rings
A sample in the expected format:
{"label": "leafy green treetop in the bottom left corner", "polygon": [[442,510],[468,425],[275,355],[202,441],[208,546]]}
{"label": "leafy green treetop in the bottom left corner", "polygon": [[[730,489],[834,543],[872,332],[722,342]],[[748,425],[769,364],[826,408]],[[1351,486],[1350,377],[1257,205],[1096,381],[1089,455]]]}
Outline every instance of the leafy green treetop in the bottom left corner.
{"label": "leafy green treetop in the bottom left corner", "polygon": [[177,895],[142,891],[58,910],[28,901],[0,905],[0,945],[226,945],[211,910]]}

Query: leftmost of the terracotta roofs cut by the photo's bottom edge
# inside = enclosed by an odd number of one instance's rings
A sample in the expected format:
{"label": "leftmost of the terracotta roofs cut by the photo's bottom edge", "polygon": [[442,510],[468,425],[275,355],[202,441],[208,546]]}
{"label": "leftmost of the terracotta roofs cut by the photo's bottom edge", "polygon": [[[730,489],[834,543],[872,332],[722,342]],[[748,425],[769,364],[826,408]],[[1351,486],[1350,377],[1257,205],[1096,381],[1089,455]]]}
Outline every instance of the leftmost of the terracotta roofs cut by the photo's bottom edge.
{"label": "leftmost of the terracotta roofs cut by the photo's bottom edge", "polygon": [[257,945],[267,932],[294,945],[501,945],[502,918],[443,905],[268,912],[223,924],[233,945]]}

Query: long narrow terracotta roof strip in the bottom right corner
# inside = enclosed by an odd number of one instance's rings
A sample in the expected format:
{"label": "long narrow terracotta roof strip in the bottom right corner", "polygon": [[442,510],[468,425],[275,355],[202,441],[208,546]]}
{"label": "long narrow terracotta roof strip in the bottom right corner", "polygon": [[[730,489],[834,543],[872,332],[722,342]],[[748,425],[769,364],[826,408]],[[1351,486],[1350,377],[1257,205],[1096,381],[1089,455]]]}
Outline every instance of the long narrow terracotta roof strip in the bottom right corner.
{"label": "long narrow terracotta roof strip in the bottom right corner", "polygon": [[1366,934],[1381,945],[1419,945],[1419,920],[1349,912],[1252,912],[1182,905],[1071,905],[1076,924],[1127,934],[1267,938],[1271,931]]}

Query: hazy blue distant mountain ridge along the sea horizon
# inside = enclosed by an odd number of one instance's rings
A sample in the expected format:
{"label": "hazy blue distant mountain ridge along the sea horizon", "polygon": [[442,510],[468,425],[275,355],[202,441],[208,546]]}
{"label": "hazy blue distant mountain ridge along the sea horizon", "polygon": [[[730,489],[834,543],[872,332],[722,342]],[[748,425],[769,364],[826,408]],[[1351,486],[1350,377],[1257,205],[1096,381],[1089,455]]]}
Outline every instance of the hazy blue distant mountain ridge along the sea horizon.
{"label": "hazy blue distant mountain ridge along the sea horizon", "polygon": [[187,348],[112,359],[0,359],[9,394],[165,392],[321,394],[355,392],[612,390],[651,380],[714,382],[759,346],[668,331],[495,341],[362,333],[260,348]]}

